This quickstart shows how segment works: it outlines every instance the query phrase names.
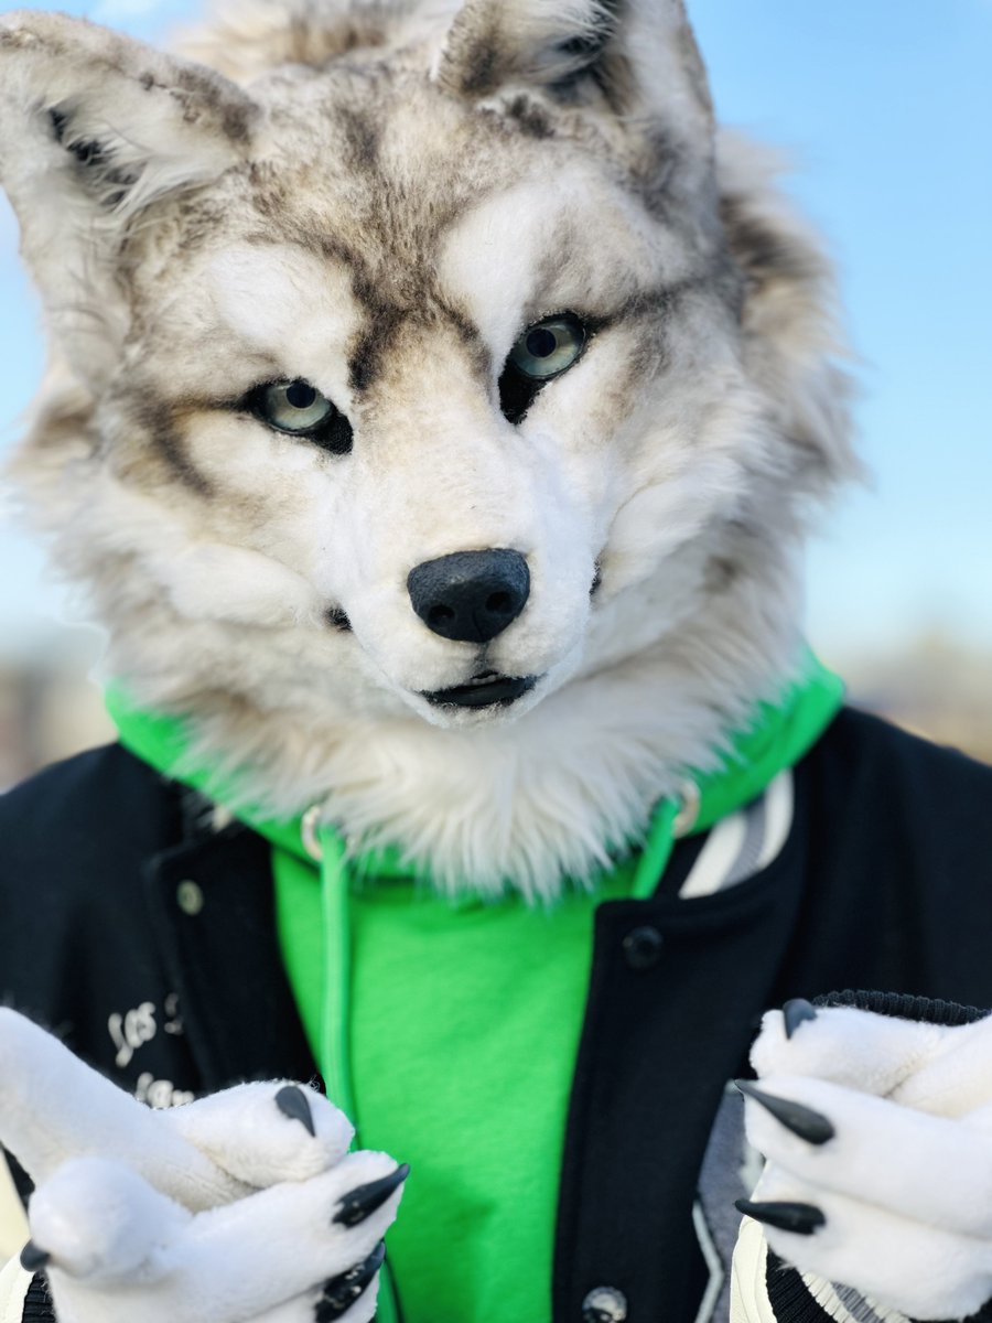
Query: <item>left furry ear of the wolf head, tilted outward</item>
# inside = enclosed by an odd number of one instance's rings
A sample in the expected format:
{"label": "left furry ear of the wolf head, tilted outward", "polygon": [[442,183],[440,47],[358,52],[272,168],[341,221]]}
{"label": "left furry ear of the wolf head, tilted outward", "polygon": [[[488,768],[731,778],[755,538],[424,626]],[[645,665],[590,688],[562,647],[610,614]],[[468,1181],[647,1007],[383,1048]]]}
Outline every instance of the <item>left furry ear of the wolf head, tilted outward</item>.
{"label": "left furry ear of the wolf head, tilted outward", "polygon": [[81,19],[0,19],[0,183],[49,327],[85,381],[126,329],[116,259],[151,202],[216,179],[255,115],[233,83]]}

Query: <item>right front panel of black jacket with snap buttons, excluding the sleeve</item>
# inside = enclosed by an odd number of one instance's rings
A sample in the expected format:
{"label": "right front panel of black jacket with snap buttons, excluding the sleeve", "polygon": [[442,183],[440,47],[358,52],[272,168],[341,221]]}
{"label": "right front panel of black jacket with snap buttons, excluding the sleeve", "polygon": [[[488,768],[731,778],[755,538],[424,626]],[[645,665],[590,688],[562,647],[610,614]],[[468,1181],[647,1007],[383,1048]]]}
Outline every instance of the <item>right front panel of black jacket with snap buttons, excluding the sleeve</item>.
{"label": "right front panel of black jacket with snap buttons, excluding the sleeve", "polygon": [[[796,921],[794,855],[790,844],[761,878],[696,901],[599,906],[559,1191],[556,1318],[581,1318],[602,1285],[648,1319],[694,1318],[709,1275],[692,1222],[697,1177]],[[661,957],[631,968],[624,938],[645,919]]]}

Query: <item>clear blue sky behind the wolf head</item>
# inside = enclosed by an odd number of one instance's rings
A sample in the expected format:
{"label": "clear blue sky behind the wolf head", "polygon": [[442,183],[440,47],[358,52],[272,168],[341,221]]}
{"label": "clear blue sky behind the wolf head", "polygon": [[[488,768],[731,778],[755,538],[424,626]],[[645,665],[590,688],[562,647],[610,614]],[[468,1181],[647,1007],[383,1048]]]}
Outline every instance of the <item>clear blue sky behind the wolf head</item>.
{"label": "clear blue sky behind the wolf head", "polygon": [[[145,38],[188,0],[44,5]],[[992,646],[992,0],[689,0],[721,118],[784,147],[839,259],[874,474],[809,556],[827,656],[925,630]],[[37,312],[0,212],[0,448],[37,382]],[[58,594],[0,532],[0,650]]]}

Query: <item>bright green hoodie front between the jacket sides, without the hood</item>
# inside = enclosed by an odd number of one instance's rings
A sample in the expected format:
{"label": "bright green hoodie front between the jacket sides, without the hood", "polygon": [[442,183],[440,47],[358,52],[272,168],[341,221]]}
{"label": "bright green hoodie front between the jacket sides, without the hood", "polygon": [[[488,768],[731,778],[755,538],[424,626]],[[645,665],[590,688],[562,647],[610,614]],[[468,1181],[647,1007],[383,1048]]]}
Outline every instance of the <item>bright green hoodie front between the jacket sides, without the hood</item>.
{"label": "bright green hoodie front between the jacket sides, without the hood", "polygon": [[335,1045],[327,1031],[340,1028],[341,980],[328,986],[321,1015],[308,963],[320,892],[307,864],[276,856],[280,939],[315,1054],[328,1065],[328,1093],[357,1118],[361,1147],[413,1168],[389,1233],[405,1323],[548,1315],[554,1174],[593,910],[628,896],[635,869],[627,860],[595,894],[573,890],[554,909],[517,898],[450,902],[410,878],[356,880],[343,868],[328,885],[325,871],[324,896],[348,893],[349,905],[347,929],[323,919],[335,964],[348,949],[352,967],[349,1041]]}

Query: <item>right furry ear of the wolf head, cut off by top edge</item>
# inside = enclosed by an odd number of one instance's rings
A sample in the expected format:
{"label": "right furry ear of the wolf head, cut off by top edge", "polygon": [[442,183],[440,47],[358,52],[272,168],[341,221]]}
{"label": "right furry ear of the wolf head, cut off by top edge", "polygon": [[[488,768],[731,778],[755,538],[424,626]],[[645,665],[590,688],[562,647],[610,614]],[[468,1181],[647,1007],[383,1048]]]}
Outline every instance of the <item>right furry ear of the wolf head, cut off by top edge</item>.
{"label": "right furry ear of the wolf head, cut off by top edge", "polygon": [[468,98],[529,85],[598,99],[656,149],[712,160],[713,103],[682,0],[464,0],[435,77]]}

